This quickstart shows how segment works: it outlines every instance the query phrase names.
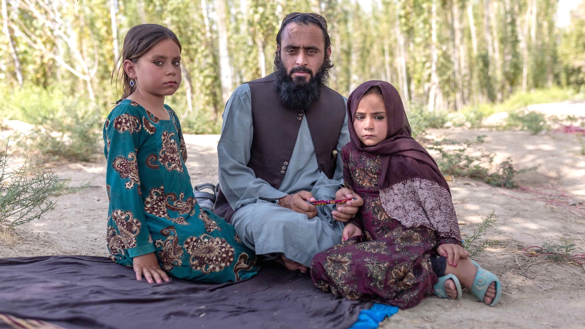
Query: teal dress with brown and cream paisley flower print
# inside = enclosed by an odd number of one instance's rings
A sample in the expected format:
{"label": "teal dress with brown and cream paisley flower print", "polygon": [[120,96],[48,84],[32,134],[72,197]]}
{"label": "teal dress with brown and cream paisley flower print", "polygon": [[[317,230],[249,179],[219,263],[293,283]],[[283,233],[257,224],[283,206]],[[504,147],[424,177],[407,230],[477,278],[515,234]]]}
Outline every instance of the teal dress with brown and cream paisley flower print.
{"label": "teal dress with brown and cream paisley flower print", "polygon": [[169,120],[121,100],[104,124],[110,258],[132,267],[136,256],[154,252],[169,275],[200,282],[253,276],[258,270],[253,251],[232,225],[199,208],[184,164],[180,122],[164,107]]}

